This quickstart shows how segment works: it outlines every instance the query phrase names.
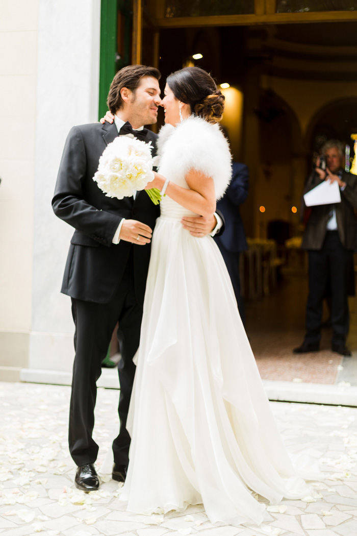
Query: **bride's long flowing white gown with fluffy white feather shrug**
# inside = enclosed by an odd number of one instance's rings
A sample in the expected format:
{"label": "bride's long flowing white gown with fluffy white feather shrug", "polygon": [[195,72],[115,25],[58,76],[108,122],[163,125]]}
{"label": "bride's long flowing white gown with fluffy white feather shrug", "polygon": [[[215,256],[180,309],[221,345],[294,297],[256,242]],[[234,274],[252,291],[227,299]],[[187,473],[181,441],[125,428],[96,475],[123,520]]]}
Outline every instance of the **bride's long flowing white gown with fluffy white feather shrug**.
{"label": "bride's long flowing white gown with fluffy white feather shrug", "polygon": [[[209,153],[222,145],[218,129],[203,123],[168,125],[160,137],[159,172],[184,188],[185,164],[176,155],[181,145],[187,147],[187,131],[193,131],[192,143],[204,138],[199,162],[214,166]],[[212,129],[213,145],[206,139]],[[222,160],[221,153],[216,157]],[[130,464],[120,498],[138,513],[203,503],[211,522],[259,524],[265,506],[252,490],[277,503],[309,489],[295,474],[270,412],[221,253],[211,236],[195,238],[181,225],[183,215],[191,214],[168,196],[162,200],[128,418]]]}

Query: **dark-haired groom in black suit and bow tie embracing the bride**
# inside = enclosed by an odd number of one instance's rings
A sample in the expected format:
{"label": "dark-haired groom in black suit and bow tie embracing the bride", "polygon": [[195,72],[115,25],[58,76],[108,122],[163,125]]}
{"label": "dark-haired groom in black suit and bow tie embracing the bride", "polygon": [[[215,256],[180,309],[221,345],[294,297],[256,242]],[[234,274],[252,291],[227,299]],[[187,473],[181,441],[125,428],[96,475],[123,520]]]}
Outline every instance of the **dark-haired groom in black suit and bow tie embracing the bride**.
{"label": "dark-haired groom in black suit and bow tie embracing the bride", "polygon": [[[112,332],[117,337],[120,431],[113,441],[112,478],[124,481],[130,436],[126,419],[135,374],[133,356],[139,346],[142,305],[150,258],[150,241],[159,206],[145,191],[135,197],[109,198],[93,176],[105,147],[119,136],[138,137],[154,146],[157,135],[142,125],[157,121],[161,102],[153,67],[129,65],[114,77],[108,106],[115,121],[74,126],[65,143],[52,207],[74,227],[62,292],[71,296],[75,324],[69,447],[78,466],[75,486],[86,492],[99,487],[94,468],[98,445],[92,437],[96,381]],[[210,218],[187,218],[185,228],[203,236],[216,226]]]}

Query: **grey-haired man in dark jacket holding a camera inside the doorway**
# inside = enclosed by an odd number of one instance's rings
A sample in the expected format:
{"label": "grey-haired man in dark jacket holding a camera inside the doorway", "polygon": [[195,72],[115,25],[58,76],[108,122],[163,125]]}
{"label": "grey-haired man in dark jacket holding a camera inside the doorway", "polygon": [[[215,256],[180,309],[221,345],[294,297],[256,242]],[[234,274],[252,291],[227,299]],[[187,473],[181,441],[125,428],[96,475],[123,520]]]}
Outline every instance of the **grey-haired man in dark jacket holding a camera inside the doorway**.
{"label": "grey-haired man in dark jacket holding a camera inside the doorway", "polygon": [[326,169],[318,166],[309,176],[305,192],[321,181],[338,182],[341,202],[317,205],[306,225],[302,248],[309,256],[309,295],[306,305],[306,334],[303,343],[294,348],[295,354],[320,349],[322,304],[326,285],[331,285],[331,348],[338,354],[351,356],[346,347],[348,333],[348,276],[353,251],[357,250],[357,176],[343,169],[344,145],[329,140],[322,147]]}

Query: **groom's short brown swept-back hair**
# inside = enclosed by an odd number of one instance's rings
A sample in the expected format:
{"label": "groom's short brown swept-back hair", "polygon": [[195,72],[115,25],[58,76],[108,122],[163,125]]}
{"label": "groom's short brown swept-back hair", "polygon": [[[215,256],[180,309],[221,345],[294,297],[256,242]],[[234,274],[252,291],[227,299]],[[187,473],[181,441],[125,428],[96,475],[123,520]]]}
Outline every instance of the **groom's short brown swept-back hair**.
{"label": "groom's short brown swept-back hair", "polygon": [[123,87],[127,87],[134,93],[143,76],[151,76],[159,80],[161,74],[155,67],[148,67],[146,65],[128,65],[117,72],[110,84],[107,99],[107,105],[112,114],[115,114],[123,106],[120,90]]}

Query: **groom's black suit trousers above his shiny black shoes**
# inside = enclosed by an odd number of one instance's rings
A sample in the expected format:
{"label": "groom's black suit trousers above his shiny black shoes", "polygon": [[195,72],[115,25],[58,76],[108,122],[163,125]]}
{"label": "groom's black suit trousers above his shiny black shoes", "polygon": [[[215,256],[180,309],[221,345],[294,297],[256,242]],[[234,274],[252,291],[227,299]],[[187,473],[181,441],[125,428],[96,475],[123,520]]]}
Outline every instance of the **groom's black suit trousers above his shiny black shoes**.
{"label": "groom's black suit trousers above his shiny black shoes", "polygon": [[[118,365],[119,435],[113,441],[114,461],[127,465],[130,435],[126,419],[133,388],[135,365],[133,356],[139,346],[142,305],[135,297],[132,255],[127,263],[119,288],[109,303],[93,303],[72,299],[72,315],[75,323],[72,393],[70,403],[69,446],[77,465],[94,463],[98,445],[92,437],[96,381],[100,377],[101,363],[107,355],[115,325],[119,322],[117,336],[121,359]],[[108,419],[112,416],[108,413]]]}

